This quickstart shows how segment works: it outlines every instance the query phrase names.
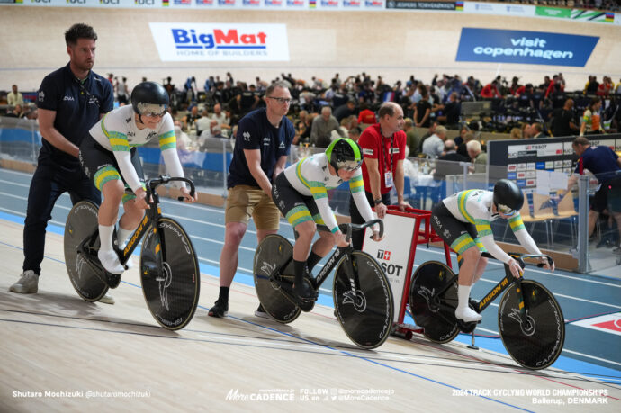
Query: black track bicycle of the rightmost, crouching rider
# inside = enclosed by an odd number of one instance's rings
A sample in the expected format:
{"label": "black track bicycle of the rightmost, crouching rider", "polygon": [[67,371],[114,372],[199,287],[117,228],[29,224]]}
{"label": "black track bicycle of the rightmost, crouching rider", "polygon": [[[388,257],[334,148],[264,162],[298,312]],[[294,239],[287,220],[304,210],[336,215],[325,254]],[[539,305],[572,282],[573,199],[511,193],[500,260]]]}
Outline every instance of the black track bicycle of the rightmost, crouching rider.
{"label": "black track bicycle of the rightmost, crouching rider", "polygon": [[[550,265],[553,259],[545,255],[510,254],[524,268],[525,258],[545,257]],[[482,256],[493,258],[489,253]],[[541,264],[540,264],[541,265]],[[428,261],[412,275],[410,310],[415,323],[425,328],[424,336],[436,343],[447,343],[459,334],[472,333],[476,322],[466,323],[455,318],[457,307],[458,275],[447,265]],[[529,369],[545,369],[553,364],[565,340],[563,311],[552,292],[534,280],[515,278],[509,265],[505,277],[483,296],[482,301],[471,301],[478,313],[505,292],[500,299],[498,324],[502,343],[518,364]]]}

